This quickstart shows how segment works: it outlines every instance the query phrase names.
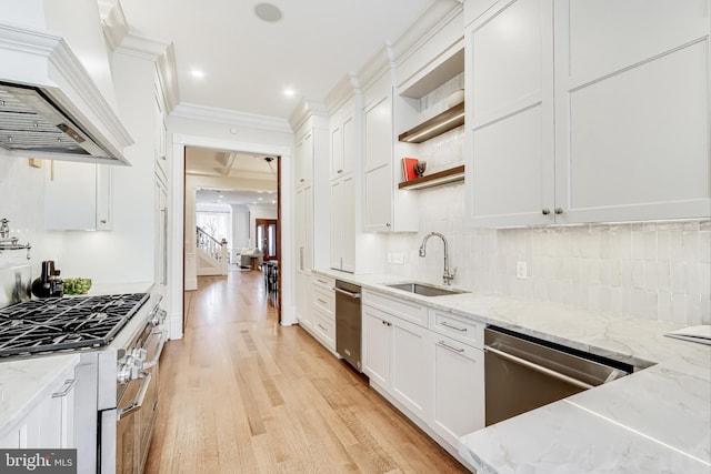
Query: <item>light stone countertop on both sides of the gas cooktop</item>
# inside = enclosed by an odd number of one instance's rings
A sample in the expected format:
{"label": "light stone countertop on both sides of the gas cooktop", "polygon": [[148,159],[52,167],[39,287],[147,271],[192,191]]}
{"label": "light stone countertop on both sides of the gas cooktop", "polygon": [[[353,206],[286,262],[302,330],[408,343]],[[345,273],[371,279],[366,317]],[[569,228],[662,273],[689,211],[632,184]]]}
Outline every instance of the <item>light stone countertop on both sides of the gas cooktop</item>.
{"label": "light stone countertop on both sides of the gas cooktop", "polygon": [[[152,282],[96,285],[88,295],[144,293],[152,285]],[[79,362],[79,353],[67,352],[0,359],[0,438],[27,416],[39,401],[61,387],[66,379],[73,379],[73,370]]]}

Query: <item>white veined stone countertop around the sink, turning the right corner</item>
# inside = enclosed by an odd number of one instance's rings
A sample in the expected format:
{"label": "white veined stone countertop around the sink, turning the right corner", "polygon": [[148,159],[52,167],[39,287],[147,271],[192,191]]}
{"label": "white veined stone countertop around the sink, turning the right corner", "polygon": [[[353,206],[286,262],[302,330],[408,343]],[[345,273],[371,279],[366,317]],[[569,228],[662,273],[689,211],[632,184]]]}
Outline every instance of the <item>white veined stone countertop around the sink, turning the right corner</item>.
{"label": "white veined stone countertop around the sink, turning the right corner", "polygon": [[468,434],[479,473],[711,473],[711,346],[665,337],[682,327],[475,292],[427,297],[390,275],[317,274],[630,363],[638,372]]}

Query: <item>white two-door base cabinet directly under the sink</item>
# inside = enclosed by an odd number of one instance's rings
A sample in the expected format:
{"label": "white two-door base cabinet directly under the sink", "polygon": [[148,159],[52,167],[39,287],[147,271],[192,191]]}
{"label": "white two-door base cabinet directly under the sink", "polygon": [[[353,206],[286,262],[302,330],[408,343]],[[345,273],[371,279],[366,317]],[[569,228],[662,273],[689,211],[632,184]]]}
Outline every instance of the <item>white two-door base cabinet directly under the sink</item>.
{"label": "white two-door base cabinet directly under the sink", "polygon": [[[431,406],[431,346],[427,326],[402,313],[427,309],[367,292],[363,300],[363,372],[371,385],[384,391],[412,415],[425,420]],[[405,316],[405,317],[403,317]],[[417,316],[414,317],[417,320]],[[425,320],[427,321],[427,320]]]}

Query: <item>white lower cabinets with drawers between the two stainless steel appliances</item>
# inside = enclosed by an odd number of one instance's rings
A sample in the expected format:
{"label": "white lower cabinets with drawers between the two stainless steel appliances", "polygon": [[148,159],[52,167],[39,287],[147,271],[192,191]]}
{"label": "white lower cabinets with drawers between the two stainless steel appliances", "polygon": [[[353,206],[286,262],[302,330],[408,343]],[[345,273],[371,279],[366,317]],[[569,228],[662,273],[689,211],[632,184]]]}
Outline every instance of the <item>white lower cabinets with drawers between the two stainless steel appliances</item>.
{"label": "white lower cabinets with drawers between the two stainless steel appliances", "polygon": [[484,426],[484,324],[363,294],[363,372],[371,386],[464,462],[459,438]]}

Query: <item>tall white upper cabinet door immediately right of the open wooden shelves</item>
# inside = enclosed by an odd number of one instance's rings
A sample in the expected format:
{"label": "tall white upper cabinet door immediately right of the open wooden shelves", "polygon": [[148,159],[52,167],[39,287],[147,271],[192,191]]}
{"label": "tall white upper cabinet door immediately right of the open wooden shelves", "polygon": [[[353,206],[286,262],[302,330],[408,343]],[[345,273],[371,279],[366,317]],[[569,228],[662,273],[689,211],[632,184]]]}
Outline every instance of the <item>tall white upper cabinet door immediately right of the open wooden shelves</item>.
{"label": "tall white upper cabinet door immediately right of the open wooden shelves", "polygon": [[552,39],[551,0],[505,2],[467,30],[467,201],[478,225],[553,222]]}

